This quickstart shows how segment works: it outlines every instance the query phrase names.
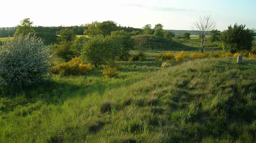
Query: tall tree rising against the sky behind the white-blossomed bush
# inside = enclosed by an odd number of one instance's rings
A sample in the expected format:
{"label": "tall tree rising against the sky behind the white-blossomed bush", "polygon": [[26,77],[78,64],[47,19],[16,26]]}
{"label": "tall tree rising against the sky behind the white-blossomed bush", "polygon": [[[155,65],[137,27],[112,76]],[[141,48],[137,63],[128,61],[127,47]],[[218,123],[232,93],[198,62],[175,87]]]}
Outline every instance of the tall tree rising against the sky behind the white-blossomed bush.
{"label": "tall tree rising against the sky behind the white-blossomed bush", "polygon": [[35,30],[32,27],[33,22],[30,22],[30,18],[25,18],[22,21],[20,21],[20,25],[17,25],[17,29],[13,36],[19,35],[23,33],[24,35],[27,35],[29,33],[35,32]]}

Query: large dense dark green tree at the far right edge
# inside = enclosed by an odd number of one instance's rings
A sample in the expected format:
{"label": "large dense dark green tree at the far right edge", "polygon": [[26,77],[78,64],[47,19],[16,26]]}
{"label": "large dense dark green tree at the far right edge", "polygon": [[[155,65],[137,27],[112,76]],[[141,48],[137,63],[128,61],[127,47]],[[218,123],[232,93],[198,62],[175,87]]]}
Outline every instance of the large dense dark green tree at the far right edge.
{"label": "large dense dark green tree at the far right edge", "polygon": [[239,51],[250,51],[254,40],[255,30],[245,29],[245,25],[234,24],[220,34],[222,48],[232,54]]}

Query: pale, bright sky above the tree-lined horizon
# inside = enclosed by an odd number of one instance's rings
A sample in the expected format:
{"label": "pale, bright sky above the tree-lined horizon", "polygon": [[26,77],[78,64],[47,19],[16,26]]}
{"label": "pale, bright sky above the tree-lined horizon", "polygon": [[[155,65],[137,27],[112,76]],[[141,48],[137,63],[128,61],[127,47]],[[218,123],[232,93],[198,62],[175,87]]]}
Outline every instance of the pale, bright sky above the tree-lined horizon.
{"label": "pale, bright sky above the tree-lined horizon", "polygon": [[143,28],[158,23],[165,30],[191,30],[200,17],[211,16],[215,29],[234,24],[256,29],[255,0],[0,0],[0,27],[15,27],[25,18],[32,26],[75,26],[112,20]]}

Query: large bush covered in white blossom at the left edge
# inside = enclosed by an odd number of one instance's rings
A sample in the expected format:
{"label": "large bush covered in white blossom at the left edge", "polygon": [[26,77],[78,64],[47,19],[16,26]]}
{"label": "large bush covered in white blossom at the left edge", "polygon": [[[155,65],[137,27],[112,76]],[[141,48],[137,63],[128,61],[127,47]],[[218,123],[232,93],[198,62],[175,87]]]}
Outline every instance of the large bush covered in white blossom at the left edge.
{"label": "large bush covered in white blossom at the left edge", "polygon": [[36,85],[49,78],[49,46],[41,38],[18,35],[0,47],[0,86]]}

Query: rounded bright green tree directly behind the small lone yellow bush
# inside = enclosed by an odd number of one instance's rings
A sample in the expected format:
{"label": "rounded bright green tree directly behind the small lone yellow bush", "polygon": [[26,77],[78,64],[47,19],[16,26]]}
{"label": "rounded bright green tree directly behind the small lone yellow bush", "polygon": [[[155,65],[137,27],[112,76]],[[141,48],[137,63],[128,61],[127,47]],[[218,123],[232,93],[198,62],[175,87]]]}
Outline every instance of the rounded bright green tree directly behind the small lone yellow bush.
{"label": "rounded bright green tree directly behind the small lone yellow bush", "polygon": [[103,35],[94,36],[85,42],[81,58],[97,68],[113,58],[113,46],[114,41],[111,38],[105,38]]}

